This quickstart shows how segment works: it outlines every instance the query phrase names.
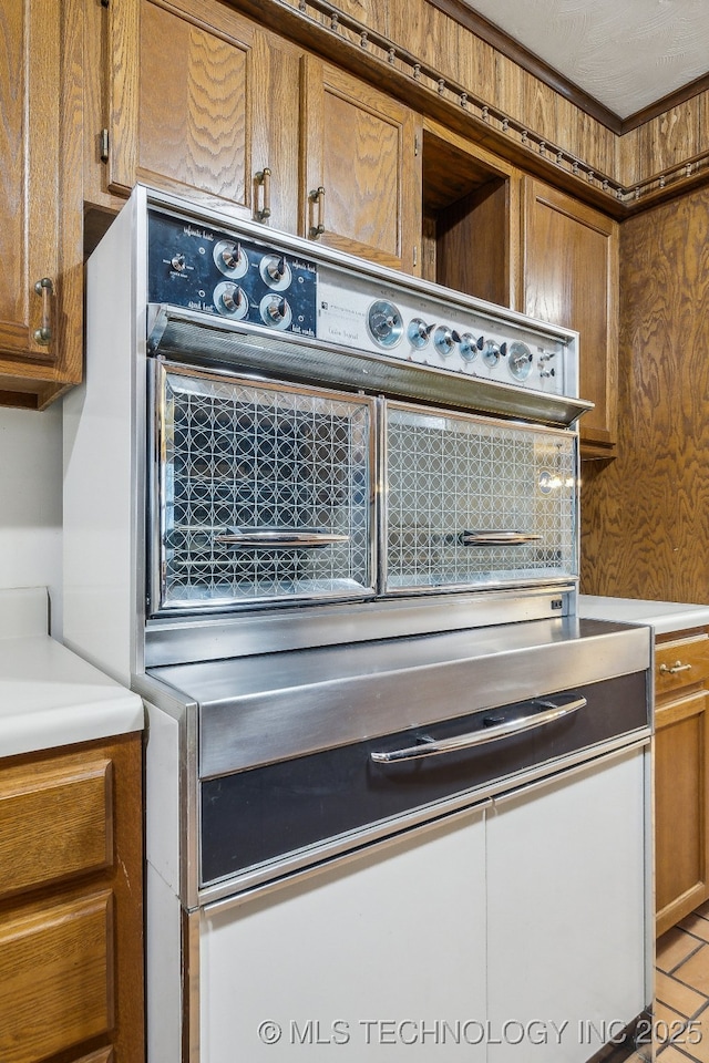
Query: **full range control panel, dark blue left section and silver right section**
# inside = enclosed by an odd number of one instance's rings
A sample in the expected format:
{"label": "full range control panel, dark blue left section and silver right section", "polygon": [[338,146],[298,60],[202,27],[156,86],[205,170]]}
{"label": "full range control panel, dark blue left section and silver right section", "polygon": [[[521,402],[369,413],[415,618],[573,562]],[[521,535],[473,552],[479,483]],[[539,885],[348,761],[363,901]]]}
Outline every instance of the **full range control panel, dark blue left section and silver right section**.
{"label": "full range control panel, dark blue left section and silver right section", "polygon": [[[265,229],[265,237],[271,234]],[[277,236],[277,234],[274,234]],[[202,219],[148,211],[148,298],[214,317],[576,398],[575,340],[501,308],[376,266],[318,260]],[[331,258],[331,256],[330,256]]]}

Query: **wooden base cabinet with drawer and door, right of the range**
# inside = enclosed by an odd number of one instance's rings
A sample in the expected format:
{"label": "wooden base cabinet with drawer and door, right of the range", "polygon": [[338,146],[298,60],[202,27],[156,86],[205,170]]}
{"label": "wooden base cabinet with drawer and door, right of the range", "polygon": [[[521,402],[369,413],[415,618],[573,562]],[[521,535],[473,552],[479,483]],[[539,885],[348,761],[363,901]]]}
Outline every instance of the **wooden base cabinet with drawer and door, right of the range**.
{"label": "wooden base cabinet with drawer and door, right of the range", "polygon": [[709,897],[709,633],[659,637],[655,669],[659,936]]}

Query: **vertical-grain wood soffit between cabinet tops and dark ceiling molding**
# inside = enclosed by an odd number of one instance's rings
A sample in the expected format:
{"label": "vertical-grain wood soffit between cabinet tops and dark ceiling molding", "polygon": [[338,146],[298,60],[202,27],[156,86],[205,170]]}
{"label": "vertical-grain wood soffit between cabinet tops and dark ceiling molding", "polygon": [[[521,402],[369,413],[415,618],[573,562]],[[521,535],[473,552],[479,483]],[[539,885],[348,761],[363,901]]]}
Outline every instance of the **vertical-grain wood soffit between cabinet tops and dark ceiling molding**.
{"label": "vertical-grain wood soffit between cabinet tops and dark ceiling molding", "polygon": [[[250,9],[254,0],[232,2]],[[330,25],[330,12],[338,11],[387,38],[528,130],[533,151],[538,151],[541,138],[577,159],[593,175],[582,173],[580,182],[607,177],[619,184],[628,214],[665,198],[670,185],[676,190],[696,186],[709,168],[709,91],[619,134],[617,126],[609,128],[428,0],[277,2],[281,10],[284,6],[300,10],[305,2],[309,18],[325,27]],[[338,32],[351,37],[342,27]]]}

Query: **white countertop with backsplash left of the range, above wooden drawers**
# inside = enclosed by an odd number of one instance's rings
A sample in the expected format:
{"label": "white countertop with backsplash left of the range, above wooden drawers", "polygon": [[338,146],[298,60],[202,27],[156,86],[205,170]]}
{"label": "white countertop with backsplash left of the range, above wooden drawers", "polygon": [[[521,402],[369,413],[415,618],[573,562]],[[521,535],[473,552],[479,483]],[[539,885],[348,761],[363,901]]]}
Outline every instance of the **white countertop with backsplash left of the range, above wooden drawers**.
{"label": "white countertop with backsplash left of the range, above wooden drawers", "polygon": [[0,590],[0,757],[140,731],[140,696],[48,631],[43,587]]}

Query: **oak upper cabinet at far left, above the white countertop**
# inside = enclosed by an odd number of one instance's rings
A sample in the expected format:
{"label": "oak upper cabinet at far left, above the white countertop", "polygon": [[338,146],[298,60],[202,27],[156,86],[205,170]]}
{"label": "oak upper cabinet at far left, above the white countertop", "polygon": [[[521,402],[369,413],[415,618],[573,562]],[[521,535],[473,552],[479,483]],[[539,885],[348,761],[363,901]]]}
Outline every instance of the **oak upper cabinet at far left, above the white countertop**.
{"label": "oak upper cabinet at far left, above the white countertop", "polygon": [[78,0],[0,10],[0,402],[42,409],[82,372]]}

